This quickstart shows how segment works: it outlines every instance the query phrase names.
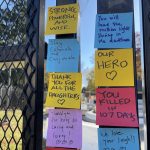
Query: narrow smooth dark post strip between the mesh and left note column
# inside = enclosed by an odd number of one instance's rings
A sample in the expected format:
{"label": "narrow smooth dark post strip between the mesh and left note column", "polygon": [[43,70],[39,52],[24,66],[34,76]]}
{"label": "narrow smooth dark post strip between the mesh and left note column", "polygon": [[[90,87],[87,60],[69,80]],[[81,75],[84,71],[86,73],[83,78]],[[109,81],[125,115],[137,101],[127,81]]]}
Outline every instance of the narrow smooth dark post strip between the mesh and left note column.
{"label": "narrow smooth dark post strip between the mesh and left note column", "polygon": [[36,96],[35,96],[35,149],[42,150],[43,141],[43,95],[44,95],[44,29],[45,29],[45,0],[34,0],[37,7],[37,70],[36,70]]}

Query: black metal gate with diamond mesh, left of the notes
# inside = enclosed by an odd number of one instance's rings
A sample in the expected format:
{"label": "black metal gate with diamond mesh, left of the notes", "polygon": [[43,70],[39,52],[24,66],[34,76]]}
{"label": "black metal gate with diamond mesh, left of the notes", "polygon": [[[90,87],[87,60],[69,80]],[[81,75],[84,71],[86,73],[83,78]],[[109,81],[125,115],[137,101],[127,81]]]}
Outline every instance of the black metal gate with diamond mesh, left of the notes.
{"label": "black metal gate with diamond mesh, left of the notes", "polygon": [[0,149],[42,149],[44,0],[0,0]]}

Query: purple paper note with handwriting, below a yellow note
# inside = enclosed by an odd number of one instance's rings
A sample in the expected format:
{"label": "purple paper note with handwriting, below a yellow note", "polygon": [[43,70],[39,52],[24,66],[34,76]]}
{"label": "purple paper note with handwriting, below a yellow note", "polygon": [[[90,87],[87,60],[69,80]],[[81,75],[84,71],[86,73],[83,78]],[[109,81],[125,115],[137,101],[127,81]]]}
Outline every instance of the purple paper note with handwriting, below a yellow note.
{"label": "purple paper note with handwriting, below a yellow note", "polygon": [[50,109],[46,146],[81,148],[81,145],[81,110]]}

